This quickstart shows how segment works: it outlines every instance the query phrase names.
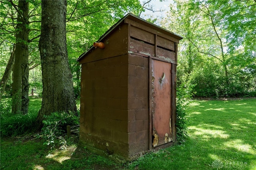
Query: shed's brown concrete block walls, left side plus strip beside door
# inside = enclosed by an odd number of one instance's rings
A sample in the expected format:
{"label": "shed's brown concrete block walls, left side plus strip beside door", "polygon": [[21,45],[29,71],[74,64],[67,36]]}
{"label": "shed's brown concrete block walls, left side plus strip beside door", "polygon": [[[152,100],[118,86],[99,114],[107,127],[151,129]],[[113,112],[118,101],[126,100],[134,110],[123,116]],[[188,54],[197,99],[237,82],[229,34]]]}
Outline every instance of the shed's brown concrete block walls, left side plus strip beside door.
{"label": "shed's brown concrete block walls, left side plus strip beside door", "polygon": [[120,55],[82,65],[80,139],[126,158],[148,150],[148,58]]}

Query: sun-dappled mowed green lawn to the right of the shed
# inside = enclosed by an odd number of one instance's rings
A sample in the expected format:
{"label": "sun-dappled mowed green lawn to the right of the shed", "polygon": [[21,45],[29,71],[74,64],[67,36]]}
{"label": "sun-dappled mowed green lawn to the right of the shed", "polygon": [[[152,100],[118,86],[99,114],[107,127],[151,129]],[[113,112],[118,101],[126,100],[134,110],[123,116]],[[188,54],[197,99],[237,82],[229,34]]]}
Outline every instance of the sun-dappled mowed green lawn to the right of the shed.
{"label": "sun-dappled mowed green lawn to the right of the shed", "polygon": [[188,139],[136,162],[139,169],[256,170],[256,99],[194,100]]}

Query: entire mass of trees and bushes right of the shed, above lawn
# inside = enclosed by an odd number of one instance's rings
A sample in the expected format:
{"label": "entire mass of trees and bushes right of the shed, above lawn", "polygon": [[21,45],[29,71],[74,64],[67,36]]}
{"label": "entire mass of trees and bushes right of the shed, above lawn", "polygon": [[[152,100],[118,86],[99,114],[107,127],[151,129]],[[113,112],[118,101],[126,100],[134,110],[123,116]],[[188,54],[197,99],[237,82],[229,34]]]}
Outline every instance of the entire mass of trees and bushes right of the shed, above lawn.
{"label": "entire mass of trees and bushes right of the shed, above lawn", "polygon": [[195,84],[197,97],[254,96],[255,9],[247,0],[174,0],[162,23],[184,37],[177,83]]}

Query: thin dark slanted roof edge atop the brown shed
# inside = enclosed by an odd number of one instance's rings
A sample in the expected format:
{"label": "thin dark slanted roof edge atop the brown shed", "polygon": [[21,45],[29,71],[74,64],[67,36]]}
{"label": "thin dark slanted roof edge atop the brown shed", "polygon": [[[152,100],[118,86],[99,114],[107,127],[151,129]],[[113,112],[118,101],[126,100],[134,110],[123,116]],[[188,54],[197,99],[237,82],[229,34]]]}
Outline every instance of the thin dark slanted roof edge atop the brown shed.
{"label": "thin dark slanted roof edge atop the brown shed", "polygon": [[[103,34],[103,35],[99,38],[99,40],[98,40],[97,42],[101,42],[108,34],[110,34],[111,32],[113,32],[115,28],[117,28],[118,26],[120,26],[120,25],[124,22],[124,20],[125,20],[126,18],[128,18],[128,19],[130,19],[130,20],[133,20],[133,21],[135,21],[135,22],[138,22],[138,23],[140,23],[140,24],[143,24],[143,25],[145,25],[145,26],[148,26],[149,28],[152,28],[152,29],[154,29],[154,30],[156,30],[156,31],[160,31],[160,32],[162,32],[163,34],[172,36],[172,37],[176,38],[177,40],[181,40],[181,39],[183,38],[182,36],[180,36],[180,35],[178,35],[178,34],[175,34],[175,33],[173,33],[173,32],[170,32],[169,30],[166,30],[166,29],[164,29],[164,28],[162,28],[162,27],[160,27],[160,26],[157,26],[156,24],[152,24],[151,22],[148,22],[148,21],[146,21],[146,20],[144,20],[144,19],[142,19],[142,18],[139,18],[138,16],[135,16],[135,15],[133,15],[133,14],[131,14],[131,13],[128,13],[128,14],[126,14],[126,16],[124,16],[123,18],[121,18],[116,24],[114,24],[105,34]],[[92,45],[87,51],[85,51],[84,53],[82,53],[82,54],[78,57],[77,61],[80,61],[87,53],[90,53],[90,51],[91,51],[92,48],[93,48],[93,45]]]}

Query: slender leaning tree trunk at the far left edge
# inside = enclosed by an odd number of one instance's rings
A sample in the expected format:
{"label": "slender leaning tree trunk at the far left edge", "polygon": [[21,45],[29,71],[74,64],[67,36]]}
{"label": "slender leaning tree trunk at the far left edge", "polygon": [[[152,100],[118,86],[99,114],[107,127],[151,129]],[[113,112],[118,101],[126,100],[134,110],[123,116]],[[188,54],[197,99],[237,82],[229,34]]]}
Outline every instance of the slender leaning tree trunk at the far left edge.
{"label": "slender leaning tree trunk at the far left edge", "polygon": [[8,80],[9,80],[9,77],[10,77],[11,73],[12,73],[12,69],[13,69],[13,65],[14,65],[14,60],[15,60],[15,55],[14,55],[15,54],[15,47],[16,47],[16,45],[14,44],[13,45],[13,49],[11,51],[10,59],[8,61],[6,69],[4,71],[4,75],[3,75],[3,77],[2,77],[2,79],[0,81],[0,89],[1,89],[0,90],[1,91],[1,93],[0,93],[0,101],[2,99],[2,95],[4,93],[5,86],[6,86],[7,82],[8,82]]}

